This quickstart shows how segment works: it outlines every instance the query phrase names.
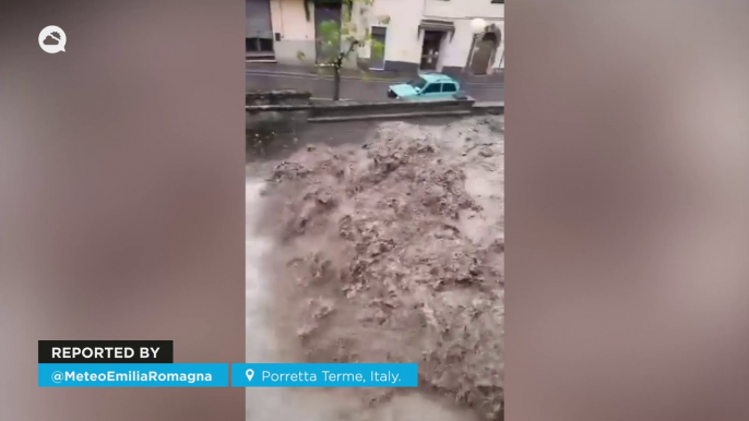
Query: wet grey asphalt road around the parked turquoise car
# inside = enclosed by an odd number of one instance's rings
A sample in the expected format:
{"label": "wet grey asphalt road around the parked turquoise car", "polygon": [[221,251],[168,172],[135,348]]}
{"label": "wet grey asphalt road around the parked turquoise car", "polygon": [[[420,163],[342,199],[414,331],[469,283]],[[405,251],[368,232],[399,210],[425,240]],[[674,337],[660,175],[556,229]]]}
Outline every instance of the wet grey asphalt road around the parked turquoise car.
{"label": "wet grey asphalt road around the parked turquoise car", "polygon": [[[388,86],[397,83],[392,81],[341,81],[341,98],[354,100],[388,99]],[[284,75],[271,73],[246,73],[247,91],[299,89],[312,93],[312,97],[331,98],[333,81],[313,75]],[[463,91],[479,101],[503,101],[503,84],[465,85]]]}

